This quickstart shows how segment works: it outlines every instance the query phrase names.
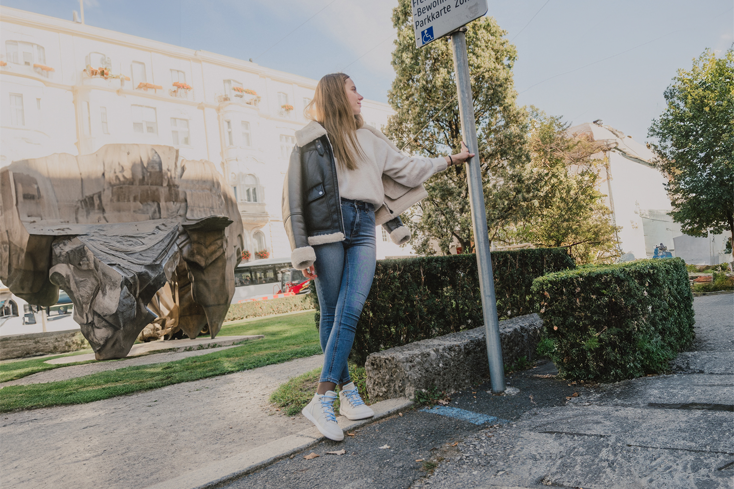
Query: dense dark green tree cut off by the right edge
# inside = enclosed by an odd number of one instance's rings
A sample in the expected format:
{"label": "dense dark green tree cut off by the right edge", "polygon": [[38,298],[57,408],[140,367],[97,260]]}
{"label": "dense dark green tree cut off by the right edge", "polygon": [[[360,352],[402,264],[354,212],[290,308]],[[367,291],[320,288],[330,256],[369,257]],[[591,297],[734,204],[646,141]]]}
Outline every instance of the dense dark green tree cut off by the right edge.
{"label": "dense dark green tree cut off by the right edge", "polygon": [[650,126],[652,149],[683,232],[734,238],[734,51],[711,50],[678,70],[666,89],[667,108]]}

